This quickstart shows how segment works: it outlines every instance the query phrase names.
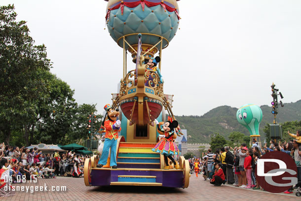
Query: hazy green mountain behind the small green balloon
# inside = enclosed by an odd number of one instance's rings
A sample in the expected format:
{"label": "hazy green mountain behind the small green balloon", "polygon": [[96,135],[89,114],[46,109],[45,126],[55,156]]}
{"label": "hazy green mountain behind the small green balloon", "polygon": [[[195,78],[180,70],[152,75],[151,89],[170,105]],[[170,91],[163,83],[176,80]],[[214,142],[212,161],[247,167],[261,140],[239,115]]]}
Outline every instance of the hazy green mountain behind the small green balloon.
{"label": "hazy green mountain behind the small green balloon", "polygon": [[[273,123],[272,108],[267,105],[261,106],[263,119],[260,123],[259,133],[264,141],[263,128],[266,123]],[[227,139],[229,133],[238,131],[250,135],[247,128],[236,120],[238,108],[220,106],[214,108],[203,116],[175,116],[182,129],[187,129],[188,143],[210,143],[210,135],[220,133]],[[284,103],[284,107],[278,108],[276,121],[301,121],[301,100],[296,103]]]}

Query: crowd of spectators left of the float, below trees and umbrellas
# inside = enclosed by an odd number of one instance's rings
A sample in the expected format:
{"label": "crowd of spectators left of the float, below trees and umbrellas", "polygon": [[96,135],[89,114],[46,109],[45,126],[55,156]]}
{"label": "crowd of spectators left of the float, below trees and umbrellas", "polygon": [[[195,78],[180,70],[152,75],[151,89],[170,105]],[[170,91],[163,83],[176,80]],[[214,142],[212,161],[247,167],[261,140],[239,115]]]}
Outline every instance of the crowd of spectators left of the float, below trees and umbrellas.
{"label": "crowd of spectators left of the float, below trees and umbrellas", "polygon": [[84,160],[87,157],[72,151],[43,154],[37,148],[12,147],[4,142],[0,144],[0,160],[7,159],[12,183],[33,178],[83,177]]}

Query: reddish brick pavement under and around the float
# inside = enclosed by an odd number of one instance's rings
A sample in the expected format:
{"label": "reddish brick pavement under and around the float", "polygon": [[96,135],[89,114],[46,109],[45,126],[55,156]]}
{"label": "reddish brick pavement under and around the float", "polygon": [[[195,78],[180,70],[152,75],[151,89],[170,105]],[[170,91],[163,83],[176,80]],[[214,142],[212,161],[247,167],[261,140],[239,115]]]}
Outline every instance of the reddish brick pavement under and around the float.
{"label": "reddish brick pavement under and around the float", "polygon": [[[35,186],[48,187],[48,191],[42,192],[16,192],[16,195],[8,198],[0,198],[1,201],[230,201],[243,199],[248,200],[286,200],[296,201],[299,199],[294,194],[272,194],[261,190],[249,190],[222,185],[215,187],[204,181],[202,177],[190,177],[187,189],[143,186],[109,186],[109,187],[86,187],[83,178],[57,177],[55,179],[38,179],[37,183],[14,184],[33,188]],[[33,186],[33,187],[31,187]],[[53,192],[51,187],[66,186],[65,192]]]}

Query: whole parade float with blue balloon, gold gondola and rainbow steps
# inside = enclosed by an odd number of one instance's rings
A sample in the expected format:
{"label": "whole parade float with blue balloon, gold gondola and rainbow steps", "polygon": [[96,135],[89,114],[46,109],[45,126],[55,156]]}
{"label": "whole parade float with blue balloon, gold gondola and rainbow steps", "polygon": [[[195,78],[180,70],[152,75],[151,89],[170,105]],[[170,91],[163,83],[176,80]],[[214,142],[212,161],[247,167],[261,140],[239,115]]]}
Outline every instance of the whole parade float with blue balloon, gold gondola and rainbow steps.
{"label": "whole parade float with blue balloon, gold gondola and rainbow steps", "polygon": [[[173,120],[173,95],[163,93],[162,50],[179,26],[177,0],[106,0],[106,23],[113,40],[123,49],[123,78],[113,95],[113,109],[119,109],[121,131],[117,139],[117,168],[98,168],[99,156],[86,159],[86,186],[137,185],[187,188],[189,163],[179,157],[180,168],[164,169],[163,155],[151,151],[159,141],[154,120]],[[127,71],[127,53],[136,68]],[[156,68],[147,62],[158,55]],[[163,67],[162,67],[163,68]],[[116,80],[117,82],[118,80]],[[181,135],[180,127],[176,128]]]}

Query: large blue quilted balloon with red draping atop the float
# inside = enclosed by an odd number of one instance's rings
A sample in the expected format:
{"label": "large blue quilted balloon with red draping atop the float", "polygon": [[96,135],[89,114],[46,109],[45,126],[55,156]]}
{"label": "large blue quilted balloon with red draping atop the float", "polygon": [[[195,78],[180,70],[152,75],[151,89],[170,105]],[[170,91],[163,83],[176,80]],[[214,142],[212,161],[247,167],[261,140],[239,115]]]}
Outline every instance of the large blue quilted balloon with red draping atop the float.
{"label": "large blue quilted balloon with red draping atop the float", "polygon": [[[177,0],[109,0],[107,5],[109,33],[126,49],[129,45],[121,40],[122,37],[133,45],[137,44],[138,33],[143,35],[143,44],[155,45],[163,37],[162,48],[166,47],[176,35],[179,19]],[[160,49],[160,45],[156,47]]]}

